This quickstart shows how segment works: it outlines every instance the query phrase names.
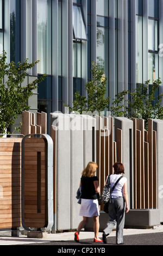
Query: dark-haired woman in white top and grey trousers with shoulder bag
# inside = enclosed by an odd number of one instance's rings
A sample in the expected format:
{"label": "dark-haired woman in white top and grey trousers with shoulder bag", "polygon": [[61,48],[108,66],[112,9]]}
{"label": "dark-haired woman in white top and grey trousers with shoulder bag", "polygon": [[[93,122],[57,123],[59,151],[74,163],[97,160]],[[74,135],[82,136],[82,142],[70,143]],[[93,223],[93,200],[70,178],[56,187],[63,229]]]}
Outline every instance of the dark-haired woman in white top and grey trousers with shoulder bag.
{"label": "dark-haired woman in white top and grey trousers with shoulder bag", "polygon": [[[110,187],[112,188],[115,182],[124,174],[124,166],[120,162],[116,162],[113,166],[114,174],[110,175]],[[108,177],[106,178],[106,181]],[[126,204],[126,205],[125,205]],[[116,243],[123,244],[123,228],[125,212],[128,212],[128,193],[127,193],[127,178],[122,177],[114,190],[111,193],[111,202],[109,203],[109,221],[106,228],[103,230],[103,242],[107,243],[106,236],[108,236],[114,225],[116,225]]]}

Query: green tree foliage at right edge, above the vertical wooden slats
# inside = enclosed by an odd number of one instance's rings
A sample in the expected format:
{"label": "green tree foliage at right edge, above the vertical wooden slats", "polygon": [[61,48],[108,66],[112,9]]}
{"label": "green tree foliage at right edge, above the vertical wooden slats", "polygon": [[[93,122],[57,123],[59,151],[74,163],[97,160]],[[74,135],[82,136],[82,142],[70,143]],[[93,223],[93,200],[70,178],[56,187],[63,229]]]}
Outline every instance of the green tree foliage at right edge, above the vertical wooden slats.
{"label": "green tree foliage at right edge, above the vertical wooden slats", "polygon": [[[149,119],[163,119],[163,107],[161,106],[161,100],[163,94],[159,94],[159,86],[161,84],[160,78],[150,85],[150,80],[145,84],[139,84],[133,90],[133,92],[124,90],[118,93],[114,99],[113,106],[111,107],[111,113],[115,116],[121,116],[127,118],[142,118],[145,120],[145,128],[148,128]],[[129,95],[130,100],[124,102],[124,96]]]}

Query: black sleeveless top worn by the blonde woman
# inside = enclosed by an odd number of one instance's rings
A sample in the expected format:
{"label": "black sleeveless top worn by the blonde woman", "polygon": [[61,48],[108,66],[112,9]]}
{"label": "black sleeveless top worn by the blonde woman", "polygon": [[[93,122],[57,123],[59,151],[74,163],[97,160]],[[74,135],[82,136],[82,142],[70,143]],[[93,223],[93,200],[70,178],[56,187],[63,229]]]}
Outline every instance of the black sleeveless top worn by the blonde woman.
{"label": "black sleeveless top worn by the blonde woman", "polygon": [[82,175],[82,195],[83,199],[97,199],[97,193],[93,181],[98,180],[97,176],[85,177]]}

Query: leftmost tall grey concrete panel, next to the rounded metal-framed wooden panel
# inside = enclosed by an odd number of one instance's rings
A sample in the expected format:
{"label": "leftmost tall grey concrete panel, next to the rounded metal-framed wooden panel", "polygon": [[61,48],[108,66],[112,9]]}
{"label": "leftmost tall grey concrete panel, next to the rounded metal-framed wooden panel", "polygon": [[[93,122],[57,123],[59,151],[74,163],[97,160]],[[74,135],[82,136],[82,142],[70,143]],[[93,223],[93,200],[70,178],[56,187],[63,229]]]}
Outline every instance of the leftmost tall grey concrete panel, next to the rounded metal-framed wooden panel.
{"label": "leftmost tall grey concrete panel, next to the rounded metal-framed wooden panel", "polygon": [[[57,229],[71,229],[71,132],[70,117],[51,114],[57,126]],[[66,211],[66,214],[65,214]]]}

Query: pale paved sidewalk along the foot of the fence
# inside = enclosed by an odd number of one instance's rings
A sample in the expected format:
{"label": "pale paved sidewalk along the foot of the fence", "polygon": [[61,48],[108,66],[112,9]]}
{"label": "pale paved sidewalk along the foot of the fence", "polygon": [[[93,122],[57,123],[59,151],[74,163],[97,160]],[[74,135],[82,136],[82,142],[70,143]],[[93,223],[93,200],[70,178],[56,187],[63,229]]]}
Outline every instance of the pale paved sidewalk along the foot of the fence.
{"label": "pale paved sidewalk along the foot of the fence", "polygon": [[[123,235],[136,235],[136,234],[154,234],[160,233],[163,234],[163,225],[155,226],[151,229],[124,229]],[[162,233],[162,234],[161,234]],[[93,232],[81,231],[80,232],[80,240],[92,239],[93,241]],[[108,237],[116,236],[116,231],[112,231],[112,233]],[[102,238],[102,233],[99,233],[99,237]],[[56,234],[47,234],[45,238],[36,239],[36,238],[28,238],[27,235],[20,234],[19,237],[11,236],[10,231],[0,231],[0,246],[1,245],[31,245],[31,244],[41,244],[55,241],[73,241],[74,232],[63,232]],[[61,243],[60,243],[61,244]],[[162,239],[163,245],[163,239]]]}

